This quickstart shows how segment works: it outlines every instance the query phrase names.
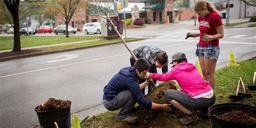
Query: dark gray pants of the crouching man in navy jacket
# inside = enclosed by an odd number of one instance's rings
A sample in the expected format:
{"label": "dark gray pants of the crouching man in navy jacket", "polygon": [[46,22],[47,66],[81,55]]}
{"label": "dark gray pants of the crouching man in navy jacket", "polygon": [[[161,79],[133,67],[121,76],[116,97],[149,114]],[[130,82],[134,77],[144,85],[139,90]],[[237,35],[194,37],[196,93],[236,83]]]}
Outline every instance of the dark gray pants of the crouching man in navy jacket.
{"label": "dark gray pants of the crouching man in navy jacket", "polygon": [[121,109],[117,114],[118,119],[129,117],[132,107],[136,104],[136,100],[132,97],[130,90],[121,91],[110,101],[103,100],[103,104],[107,110],[115,111]]}

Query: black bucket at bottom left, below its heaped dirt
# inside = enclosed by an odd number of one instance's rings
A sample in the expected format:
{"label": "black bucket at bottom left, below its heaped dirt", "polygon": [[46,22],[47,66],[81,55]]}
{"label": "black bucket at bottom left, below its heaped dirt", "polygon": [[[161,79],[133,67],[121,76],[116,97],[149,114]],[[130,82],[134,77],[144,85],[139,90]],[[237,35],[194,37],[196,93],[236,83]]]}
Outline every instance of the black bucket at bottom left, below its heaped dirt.
{"label": "black bucket at bottom left, below its heaped dirt", "polygon": [[[37,106],[38,107],[38,106]],[[52,109],[47,111],[39,111],[35,109],[39,123],[44,128],[55,128],[54,122],[58,124],[58,127],[70,128],[70,107],[69,106]]]}

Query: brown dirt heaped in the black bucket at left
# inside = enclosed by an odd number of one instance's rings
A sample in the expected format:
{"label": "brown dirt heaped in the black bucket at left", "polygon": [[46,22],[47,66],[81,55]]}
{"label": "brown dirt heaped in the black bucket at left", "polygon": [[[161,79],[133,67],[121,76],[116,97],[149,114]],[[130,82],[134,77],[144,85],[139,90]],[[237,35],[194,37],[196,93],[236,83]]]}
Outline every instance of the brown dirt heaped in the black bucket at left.
{"label": "brown dirt heaped in the black bucket at left", "polygon": [[55,98],[49,98],[45,102],[37,107],[39,111],[46,111],[51,109],[57,109],[69,106],[71,104],[70,100],[60,100]]}

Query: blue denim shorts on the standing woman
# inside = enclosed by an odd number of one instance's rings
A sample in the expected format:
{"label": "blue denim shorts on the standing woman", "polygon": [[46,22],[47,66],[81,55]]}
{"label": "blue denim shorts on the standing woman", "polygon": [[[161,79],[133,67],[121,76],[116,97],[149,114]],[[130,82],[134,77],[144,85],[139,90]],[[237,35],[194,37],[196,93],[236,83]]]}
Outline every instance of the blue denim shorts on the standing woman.
{"label": "blue denim shorts on the standing woman", "polygon": [[220,47],[219,46],[213,46],[212,49],[207,49],[207,47],[199,46],[198,49],[199,57],[205,57],[211,60],[218,60],[220,55]]}

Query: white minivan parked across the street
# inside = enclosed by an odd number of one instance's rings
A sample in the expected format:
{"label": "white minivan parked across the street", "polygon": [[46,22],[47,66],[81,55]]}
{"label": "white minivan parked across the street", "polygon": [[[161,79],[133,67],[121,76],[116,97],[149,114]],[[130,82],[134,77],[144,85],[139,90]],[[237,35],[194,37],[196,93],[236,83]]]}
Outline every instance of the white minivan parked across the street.
{"label": "white minivan parked across the street", "polygon": [[92,23],[86,23],[83,26],[83,32],[85,34],[89,34],[89,33],[97,33],[100,34],[101,33],[101,26],[99,22],[92,22]]}

